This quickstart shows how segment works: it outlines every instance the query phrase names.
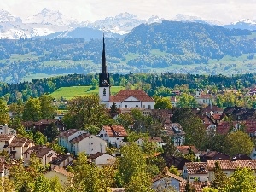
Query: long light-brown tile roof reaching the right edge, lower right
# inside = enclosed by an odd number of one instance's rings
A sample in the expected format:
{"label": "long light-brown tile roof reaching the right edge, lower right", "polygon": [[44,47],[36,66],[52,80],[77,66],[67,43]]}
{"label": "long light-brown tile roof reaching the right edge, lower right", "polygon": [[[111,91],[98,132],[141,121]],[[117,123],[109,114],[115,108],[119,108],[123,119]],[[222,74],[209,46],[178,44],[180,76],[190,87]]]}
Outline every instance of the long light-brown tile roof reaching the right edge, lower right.
{"label": "long light-brown tile roof reaching the right edge, lower right", "polygon": [[[217,160],[207,160],[208,170],[213,170]],[[222,170],[236,170],[237,168],[249,168],[256,170],[256,160],[218,160]]]}

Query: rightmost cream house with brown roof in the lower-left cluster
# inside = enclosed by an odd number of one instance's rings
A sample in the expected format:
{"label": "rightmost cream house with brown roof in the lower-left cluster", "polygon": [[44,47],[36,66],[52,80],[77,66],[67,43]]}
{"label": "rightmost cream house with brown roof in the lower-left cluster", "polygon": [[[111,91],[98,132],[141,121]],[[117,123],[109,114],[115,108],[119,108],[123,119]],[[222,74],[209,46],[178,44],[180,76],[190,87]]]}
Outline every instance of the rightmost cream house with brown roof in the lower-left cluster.
{"label": "rightmost cream house with brown roof in the lower-left cluster", "polygon": [[39,145],[28,148],[23,154],[24,166],[29,166],[32,154],[34,154],[39,160],[41,160],[43,166],[46,166],[52,160],[55,160],[55,158],[58,156],[58,154],[51,148]]}

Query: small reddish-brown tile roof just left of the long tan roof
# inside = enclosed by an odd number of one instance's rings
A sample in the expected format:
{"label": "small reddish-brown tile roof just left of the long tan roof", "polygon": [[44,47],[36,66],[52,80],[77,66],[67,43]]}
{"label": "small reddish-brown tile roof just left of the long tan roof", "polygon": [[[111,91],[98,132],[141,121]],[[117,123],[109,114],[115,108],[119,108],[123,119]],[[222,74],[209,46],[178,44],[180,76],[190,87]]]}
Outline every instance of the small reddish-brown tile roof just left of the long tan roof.
{"label": "small reddish-brown tile roof just left of the long tan roof", "polygon": [[185,163],[185,166],[189,175],[208,174],[207,162],[190,162]]}

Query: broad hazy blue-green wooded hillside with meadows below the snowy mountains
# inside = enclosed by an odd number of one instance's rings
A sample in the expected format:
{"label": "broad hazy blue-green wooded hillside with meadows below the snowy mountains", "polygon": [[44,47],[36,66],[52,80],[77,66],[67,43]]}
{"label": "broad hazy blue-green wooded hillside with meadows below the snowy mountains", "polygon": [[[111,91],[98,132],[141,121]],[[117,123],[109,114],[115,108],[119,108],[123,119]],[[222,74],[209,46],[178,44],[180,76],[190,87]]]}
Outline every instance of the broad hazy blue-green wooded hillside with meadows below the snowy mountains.
{"label": "broad hazy blue-green wooded hillside with meadows below the snowy mountains", "polygon": [[[106,39],[111,73],[253,73],[256,32],[163,21]],[[0,81],[17,83],[69,73],[99,73],[102,40],[0,40]]]}

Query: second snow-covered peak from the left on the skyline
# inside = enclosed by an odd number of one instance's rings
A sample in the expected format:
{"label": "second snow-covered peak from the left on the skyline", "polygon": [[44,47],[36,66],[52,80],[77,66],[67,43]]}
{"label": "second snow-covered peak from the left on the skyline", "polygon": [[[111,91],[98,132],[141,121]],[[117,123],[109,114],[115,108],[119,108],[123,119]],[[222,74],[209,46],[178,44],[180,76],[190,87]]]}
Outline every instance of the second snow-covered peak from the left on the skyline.
{"label": "second snow-covered peak from the left on the skyline", "polygon": [[79,22],[70,17],[62,15],[58,10],[44,8],[37,15],[32,15],[26,18],[24,23],[51,24],[54,26],[76,26]]}

